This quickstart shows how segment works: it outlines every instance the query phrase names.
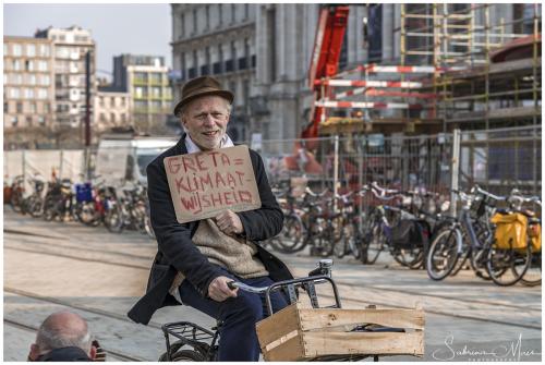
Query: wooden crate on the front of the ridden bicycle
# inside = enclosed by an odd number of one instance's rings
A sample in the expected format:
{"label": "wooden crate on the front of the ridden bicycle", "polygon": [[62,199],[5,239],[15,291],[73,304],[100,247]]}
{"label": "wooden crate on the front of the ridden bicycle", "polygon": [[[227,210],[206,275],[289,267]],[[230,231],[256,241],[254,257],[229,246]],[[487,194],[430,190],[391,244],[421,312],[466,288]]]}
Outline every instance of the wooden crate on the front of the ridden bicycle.
{"label": "wooden crate on the front of the ridden bicycle", "polygon": [[424,355],[423,309],[308,308],[298,302],[256,328],[265,361]]}

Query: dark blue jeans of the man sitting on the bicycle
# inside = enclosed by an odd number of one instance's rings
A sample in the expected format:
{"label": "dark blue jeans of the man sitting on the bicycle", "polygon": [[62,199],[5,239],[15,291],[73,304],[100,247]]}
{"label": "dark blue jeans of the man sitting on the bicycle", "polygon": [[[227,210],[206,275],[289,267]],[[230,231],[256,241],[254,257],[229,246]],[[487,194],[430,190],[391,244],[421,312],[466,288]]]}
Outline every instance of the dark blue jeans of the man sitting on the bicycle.
{"label": "dark blue jeans of the man sitting on the bicycle", "polygon": [[[272,283],[269,277],[241,279],[227,270],[225,270],[225,276],[252,287],[267,287]],[[264,295],[239,289],[237,297],[216,302],[203,297],[187,280],[184,280],[180,285],[180,297],[183,304],[222,320],[219,361],[259,361],[261,350],[255,324],[268,316]],[[280,311],[288,305],[286,297],[279,292],[270,295],[270,302],[272,312]]]}

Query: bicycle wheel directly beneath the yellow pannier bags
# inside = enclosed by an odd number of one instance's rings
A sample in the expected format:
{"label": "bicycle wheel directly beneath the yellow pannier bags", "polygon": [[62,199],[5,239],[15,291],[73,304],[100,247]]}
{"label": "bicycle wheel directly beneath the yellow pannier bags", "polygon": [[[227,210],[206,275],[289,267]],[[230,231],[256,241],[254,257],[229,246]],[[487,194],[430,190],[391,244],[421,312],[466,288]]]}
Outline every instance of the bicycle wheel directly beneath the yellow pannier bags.
{"label": "bicycle wheel directly beneath the yellow pannier bags", "polygon": [[532,246],[498,248],[493,245],[486,258],[486,270],[491,279],[500,287],[513,285],[522,279],[530,267]]}

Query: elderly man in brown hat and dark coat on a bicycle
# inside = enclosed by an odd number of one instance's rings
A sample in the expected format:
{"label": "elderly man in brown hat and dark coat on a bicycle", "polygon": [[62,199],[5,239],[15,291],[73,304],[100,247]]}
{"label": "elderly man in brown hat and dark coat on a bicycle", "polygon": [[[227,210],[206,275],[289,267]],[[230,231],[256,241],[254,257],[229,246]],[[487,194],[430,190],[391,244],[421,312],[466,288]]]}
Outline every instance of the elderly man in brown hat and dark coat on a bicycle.
{"label": "elderly man in brown hat and dark coat on a bicycle", "polygon": [[[286,265],[256,242],[276,235],[283,215],[270,191],[262,158],[250,150],[262,200],[256,210],[229,209],[215,218],[184,224],[177,221],[164,159],[233,146],[226,134],[233,94],[221,89],[208,76],[189,81],[174,114],[185,133],[178,144],[147,167],[152,224],[158,253],[146,295],[129,312],[129,317],[147,324],[156,309],[183,303],[216,319],[220,328],[219,361],[257,361],[259,344],[255,323],[265,316],[264,299],[231,290],[229,281],[264,287],[291,279]],[[287,305],[282,294],[272,297],[278,311]]]}

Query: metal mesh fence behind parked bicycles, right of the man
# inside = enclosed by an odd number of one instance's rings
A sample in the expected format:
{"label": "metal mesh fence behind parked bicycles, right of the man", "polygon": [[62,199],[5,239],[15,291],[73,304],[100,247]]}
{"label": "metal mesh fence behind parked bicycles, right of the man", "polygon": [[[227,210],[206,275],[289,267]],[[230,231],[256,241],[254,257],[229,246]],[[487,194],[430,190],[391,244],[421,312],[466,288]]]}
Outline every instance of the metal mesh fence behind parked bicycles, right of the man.
{"label": "metal mesh fence behind parked bicycles, right of the man", "polygon": [[304,178],[311,187],[342,191],[376,181],[437,193],[479,184],[497,194],[518,187],[541,195],[540,125],[421,136],[263,141],[259,150],[272,183]]}

